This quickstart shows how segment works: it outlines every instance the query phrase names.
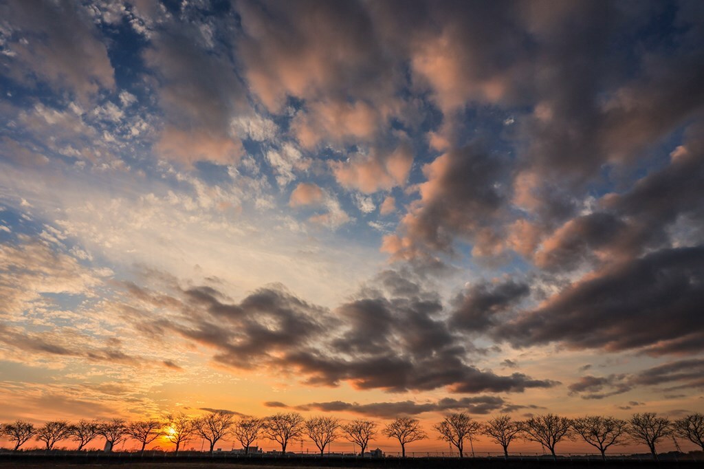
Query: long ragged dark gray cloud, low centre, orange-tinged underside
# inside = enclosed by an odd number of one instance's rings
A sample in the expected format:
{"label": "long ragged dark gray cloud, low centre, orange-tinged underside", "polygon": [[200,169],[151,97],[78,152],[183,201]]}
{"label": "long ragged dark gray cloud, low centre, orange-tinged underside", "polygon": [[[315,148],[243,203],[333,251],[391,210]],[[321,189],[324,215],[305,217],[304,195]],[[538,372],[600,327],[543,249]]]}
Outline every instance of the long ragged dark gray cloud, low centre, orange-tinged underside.
{"label": "long ragged dark gray cloud, low centre, orange-tinged underside", "polygon": [[378,280],[386,292],[365,287],[357,299],[335,311],[309,304],[280,286],[259,289],[233,303],[213,287],[162,294],[129,284],[139,301],[167,306],[178,315],[151,319],[130,309],[125,315],[150,337],[175,332],[215,349],[213,360],[222,365],[287,370],[307,384],[346,381],[358,389],[444,387],[471,394],[557,384],[478,368],[472,363],[477,350],[451,332],[435,294],[423,292],[400,273],[388,271]]}

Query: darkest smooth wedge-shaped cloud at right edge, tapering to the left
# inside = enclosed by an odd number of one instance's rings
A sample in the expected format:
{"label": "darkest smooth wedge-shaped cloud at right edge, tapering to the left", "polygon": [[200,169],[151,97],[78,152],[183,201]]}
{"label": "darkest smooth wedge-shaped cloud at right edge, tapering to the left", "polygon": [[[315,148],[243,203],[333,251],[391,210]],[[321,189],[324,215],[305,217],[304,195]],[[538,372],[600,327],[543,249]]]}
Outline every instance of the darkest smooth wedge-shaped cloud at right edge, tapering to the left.
{"label": "darkest smooth wedge-shaped cloud at right edge, tapering to the left", "polygon": [[577,282],[492,333],[515,346],[696,352],[704,337],[702,301],[704,248],[662,249]]}

